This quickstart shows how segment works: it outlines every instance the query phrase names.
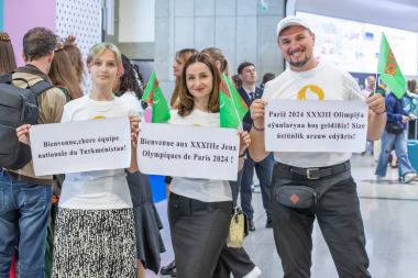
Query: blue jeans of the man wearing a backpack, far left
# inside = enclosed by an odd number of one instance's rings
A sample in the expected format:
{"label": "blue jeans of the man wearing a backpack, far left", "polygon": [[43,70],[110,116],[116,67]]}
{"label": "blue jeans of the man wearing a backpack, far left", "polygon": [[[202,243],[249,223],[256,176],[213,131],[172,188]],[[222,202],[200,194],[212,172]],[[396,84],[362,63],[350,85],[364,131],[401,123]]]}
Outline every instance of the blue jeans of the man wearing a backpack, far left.
{"label": "blue jeans of the man wearing a backpack, far left", "polygon": [[44,278],[52,186],[29,185],[0,170],[0,278],[9,271],[20,229],[20,277]]}

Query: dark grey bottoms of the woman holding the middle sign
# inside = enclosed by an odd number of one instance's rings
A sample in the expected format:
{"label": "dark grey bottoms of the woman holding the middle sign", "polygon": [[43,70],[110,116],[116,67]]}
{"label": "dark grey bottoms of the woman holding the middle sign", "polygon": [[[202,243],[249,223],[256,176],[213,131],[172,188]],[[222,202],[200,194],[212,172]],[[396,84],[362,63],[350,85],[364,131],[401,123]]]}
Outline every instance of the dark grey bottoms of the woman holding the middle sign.
{"label": "dark grey bottoms of the woman holding the middle sign", "polygon": [[201,202],[169,194],[168,220],[177,277],[212,277],[231,218],[232,201]]}

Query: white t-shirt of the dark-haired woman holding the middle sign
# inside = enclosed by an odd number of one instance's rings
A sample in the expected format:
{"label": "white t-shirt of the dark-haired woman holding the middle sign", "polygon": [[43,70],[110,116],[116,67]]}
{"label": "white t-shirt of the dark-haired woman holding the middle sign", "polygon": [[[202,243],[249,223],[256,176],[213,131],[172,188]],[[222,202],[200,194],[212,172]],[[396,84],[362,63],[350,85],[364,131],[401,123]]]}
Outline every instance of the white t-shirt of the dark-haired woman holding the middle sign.
{"label": "white t-shirt of the dark-haired woman holding the middle sign", "polygon": [[[219,113],[206,113],[196,108],[187,116],[180,116],[177,113],[177,109],[170,112],[172,119],[168,121],[170,124],[220,127]],[[174,177],[169,185],[169,191],[202,202],[223,202],[232,200],[231,187],[228,180]]]}

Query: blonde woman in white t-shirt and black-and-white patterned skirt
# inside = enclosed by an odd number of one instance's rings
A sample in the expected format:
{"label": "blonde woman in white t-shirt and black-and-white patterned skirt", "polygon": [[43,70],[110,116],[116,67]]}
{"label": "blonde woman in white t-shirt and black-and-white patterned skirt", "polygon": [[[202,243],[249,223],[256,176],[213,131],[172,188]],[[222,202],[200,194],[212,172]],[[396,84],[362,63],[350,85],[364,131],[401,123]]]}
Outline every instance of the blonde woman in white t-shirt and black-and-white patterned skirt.
{"label": "blonde woman in white t-shirt and black-and-white patterned skirt", "polygon": [[[120,51],[109,43],[95,45],[87,68],[91,92],[68,102],[62,122],[129,116],[133,133],[128,170],[134,173],[141,120],[112,92],[114,79],[123,75]],[[18,127],[18,137],[25,144],[30,144],[29,127]],[[124,169],[66,175],[56,216],[52,277],[138,277],[134,218],[125,177]]]}

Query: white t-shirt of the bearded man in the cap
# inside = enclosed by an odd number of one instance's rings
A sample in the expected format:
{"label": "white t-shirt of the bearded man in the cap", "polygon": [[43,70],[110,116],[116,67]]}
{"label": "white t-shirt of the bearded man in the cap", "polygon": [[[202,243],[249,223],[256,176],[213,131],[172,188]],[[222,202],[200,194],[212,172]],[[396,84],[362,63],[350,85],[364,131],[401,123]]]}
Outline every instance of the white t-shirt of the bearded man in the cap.
{"label": "white t-shirt of the bearded man in the cap", "polygon": [[[317,90],[323,91],[323,100],[364,100],[359,85],[349,73],[324,63],[301,73],[286,69],[265,85],[263,99],[296,100],[298,93],[305,91],[307,100],[318,100]],[[276,162],[304,168],[331,166],[350,158],[351,153],[274,153]]]}

